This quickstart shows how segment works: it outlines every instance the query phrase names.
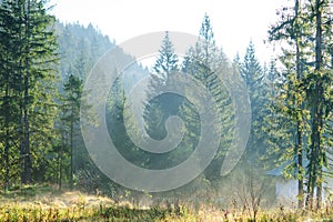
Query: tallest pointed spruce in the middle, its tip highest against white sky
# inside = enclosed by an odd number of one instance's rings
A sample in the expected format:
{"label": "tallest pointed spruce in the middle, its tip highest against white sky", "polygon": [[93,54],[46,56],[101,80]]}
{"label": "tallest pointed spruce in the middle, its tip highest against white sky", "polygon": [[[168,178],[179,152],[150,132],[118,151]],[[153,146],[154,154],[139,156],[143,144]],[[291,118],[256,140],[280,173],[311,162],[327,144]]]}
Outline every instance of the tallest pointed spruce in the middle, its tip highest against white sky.
{"label": "tallest pointed spruce in the middle, its tip highest against white sky", "polygon": [[[232,140],[232,125],[234,113],[232,111],[231,97],[222,82],[221,75],[229,75],[231,72],[225,54],[215,46],[213,29],[211,27],[210,18],[204,16],[199,39],[194,47],[190,48],[185,54],[182,71],[192,75],[211,93],[216,102],[218,122],[211,122],[212,130],[221,133],[220,147],[215,160],[206,169],[205,174],[212,180],[220,176],[220,169],[222,159],[225,155],[225,150],[229,148]],[[220,75],[220,77],[219,77]],[[185,92],[186,93],[186,92]],[[189,98],[193,98],[189,92]],[[196,98],[198,99],[198,98]],[[195,149],[200,135],[200,117],[193,104],[185,101],[181,107],[181,117],[184,120],[186,134],[184,140],[188,147]],[[222,132],[218,130],[223,124]]]}

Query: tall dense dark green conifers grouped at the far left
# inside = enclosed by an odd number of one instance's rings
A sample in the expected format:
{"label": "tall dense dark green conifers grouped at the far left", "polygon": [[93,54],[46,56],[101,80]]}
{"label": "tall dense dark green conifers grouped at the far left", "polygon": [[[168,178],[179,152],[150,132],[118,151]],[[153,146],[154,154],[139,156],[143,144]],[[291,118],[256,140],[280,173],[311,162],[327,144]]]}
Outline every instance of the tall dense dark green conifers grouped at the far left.
{"label": "tall dense dark green conifers grouped at the far left", "polygon": [[[2,1],[1,128],[4,186],[46,180],[54,167],[57,41],[44,1]],[[4,78],[4,79],[2,79]],[[4,92],[4,93],[2,93]],[[53,95],[53,97],[51,97]],[[2,140],[1,140],[2,143]],[[1,161],[2,162],[2,161]],[[11,172],[10,172],[11,171]]]}

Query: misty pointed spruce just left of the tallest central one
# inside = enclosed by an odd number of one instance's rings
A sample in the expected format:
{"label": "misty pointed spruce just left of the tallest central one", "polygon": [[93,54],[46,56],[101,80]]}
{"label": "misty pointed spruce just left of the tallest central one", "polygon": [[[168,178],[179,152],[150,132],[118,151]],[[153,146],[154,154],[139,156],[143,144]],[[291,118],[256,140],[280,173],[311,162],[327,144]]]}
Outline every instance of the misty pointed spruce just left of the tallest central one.
{"label": "misty pointed spruce just left of the tallest central one", "polygon": [[[149,101],[145,103],[143,113],[145,130],[154,140],[162,140],[167,137],[165,121],[170,115],[178,114],[182,101],[180,95],[164,92],[170,87],[176,87],[176,80],[173,77],[179,71],[178,62],[179,59],[174,52],[173,43],[169,32],[165,31],[159,54],[150,73],[147,91]],[[165,164],[172,162],[168,159],[168,154],[151,154],[149,164],[152,168],[163,169]]]}

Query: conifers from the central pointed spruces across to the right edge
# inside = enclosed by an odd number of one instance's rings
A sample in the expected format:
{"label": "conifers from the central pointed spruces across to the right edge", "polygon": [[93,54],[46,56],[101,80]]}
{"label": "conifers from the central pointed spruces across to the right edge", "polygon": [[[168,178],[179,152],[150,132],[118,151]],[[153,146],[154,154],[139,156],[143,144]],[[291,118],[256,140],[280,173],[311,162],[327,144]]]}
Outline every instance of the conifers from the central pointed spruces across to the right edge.
{"label": "conifers from the central pointed spruces across to the right edge", "polygon": [[[168,78],[174,71],[192,74],[214,97],[220,97],[223,104],[220,118],[224,124],[232,125],[230,97],[223,95],[226,90],[221,82],[215,82],[212,73],[239,72],[248,87],[252,113],[250,138],[240,164],[261,173],[279,169],[283,176],[297,180],[299,208],[321,208],[325,181],[332,176],[332,4],[325,0],[295,0],[294,6],[279,10],[279,21],[270,28],[268,40],[281,44],[282,49],[270,64],[263,67],[255,57],[252,42],[243,60],[236,57],[229,62],[223,51],[215,47],[213,30],[205,16],[199,33],[202,41],[189,49],[182,64],[179,64],[165,33],[151,74],[150,91],[168,84]],[[161,125],[170,115],[170,108],[161,104],[170,105],[175,100],[159,99],[159,102],[148,104],[148,129],[152,129],[152,135],[163,138],[165,129]],[[184,152],[186,147],[193,148],[198,142],[200,118],[186,101],[173,105],[178,105],[179,115],[185,121],[183,140],[186,142],[181,149]],[[230,129],[225,130],[230,134],[221,133],[223,137],[215,157],[220,159],[220,165],[225,155],[223,148],[228,148],[232,137]],[[219,164],[213,161],[205,170],[205,176],[213,181],[219,178],[218,172]]]}

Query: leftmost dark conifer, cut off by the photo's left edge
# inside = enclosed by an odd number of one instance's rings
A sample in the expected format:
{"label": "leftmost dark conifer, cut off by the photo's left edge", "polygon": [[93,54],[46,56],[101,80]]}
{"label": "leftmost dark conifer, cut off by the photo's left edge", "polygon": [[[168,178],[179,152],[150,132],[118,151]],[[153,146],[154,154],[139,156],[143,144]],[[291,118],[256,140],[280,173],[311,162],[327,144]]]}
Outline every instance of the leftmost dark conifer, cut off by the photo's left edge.
{"label": "leftmost dark conifer, cut off by the photo's left edge", "polygon": [[[13,17],[11,11],[11,2],[3,1],[0,4],[0,149],[1,149],[1,171],[3,173],[4,190],[9,188],[10,178],[18,173],[18,168],[11,168],[18,160],[18,148],[16,148],[14,138],[18,138],[17,132],[13,130],[18,128],[19,100],[18,100],[18,85],[16,83],[16,68],[13,62],[18,59],[17,39],[11,36],[17,32],[18,19]],[[16,28],[16,29],[13,29]],[[12,30],[13,29],[13,30]],[[3,153],[3,155],[2,155]]]}

